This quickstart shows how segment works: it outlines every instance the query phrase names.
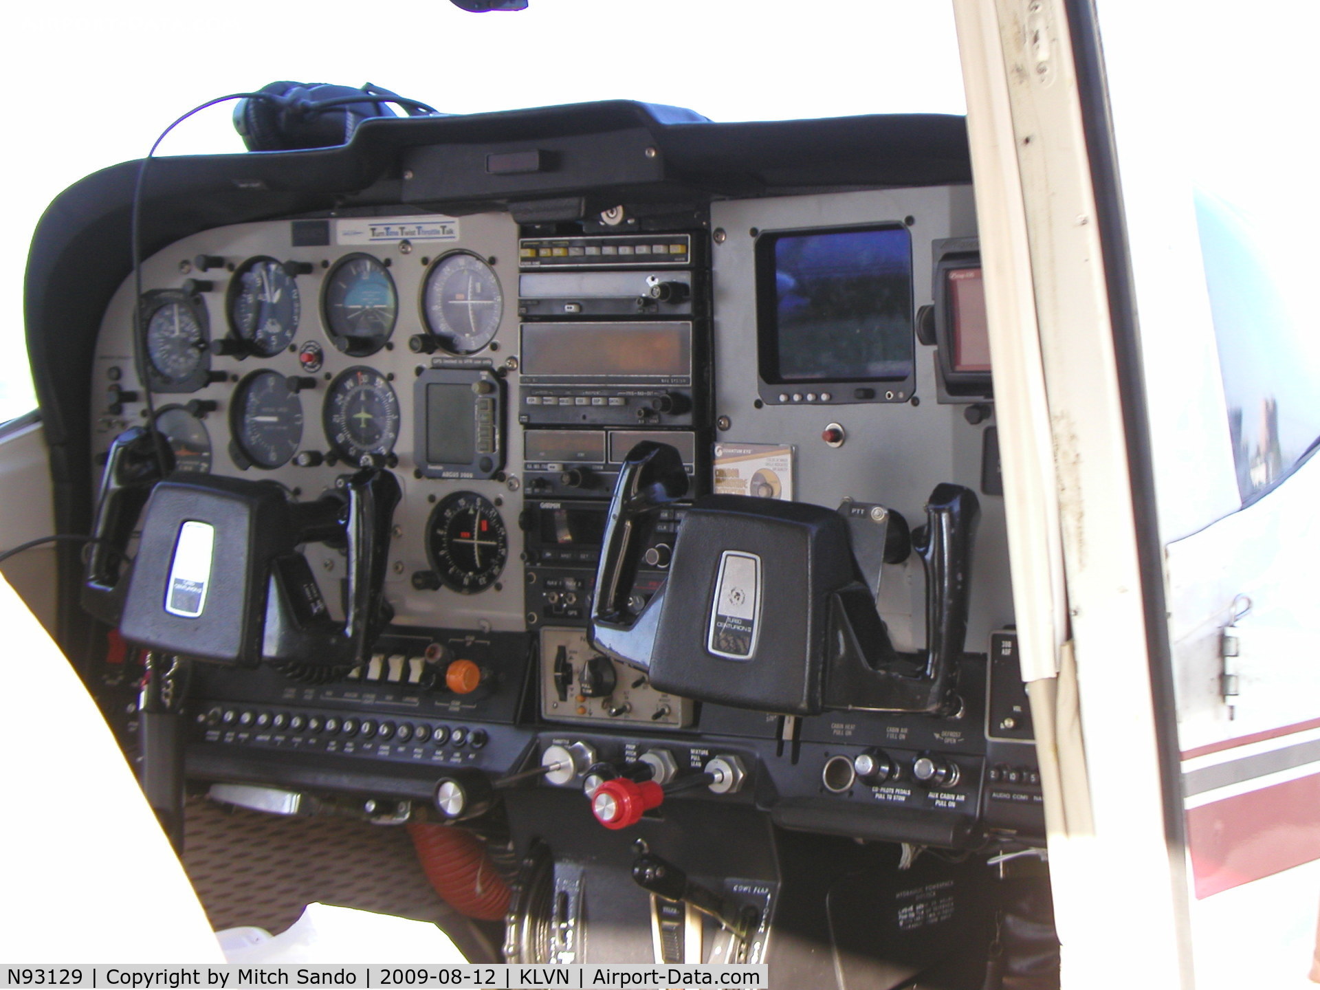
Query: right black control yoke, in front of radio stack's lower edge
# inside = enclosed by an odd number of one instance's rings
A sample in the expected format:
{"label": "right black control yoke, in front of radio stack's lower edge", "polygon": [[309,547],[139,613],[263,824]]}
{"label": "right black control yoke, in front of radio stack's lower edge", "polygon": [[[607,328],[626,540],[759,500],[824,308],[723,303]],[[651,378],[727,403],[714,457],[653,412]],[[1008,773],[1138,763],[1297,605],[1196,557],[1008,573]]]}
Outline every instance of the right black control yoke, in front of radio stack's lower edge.
{"label": "right black control yoke, in front of radio stack's lower edge", "polygon": [[619,474],[597,574],[591,643],[648,672],[659,690],[784,714],[935,711],[968,626],[972,543],[979,507],[939,484],[913,546],[927,576],[927,649],[894,649],[859,579],[838,512],[774,499],[708,495],[688,510],[668,581],[635,616],[645,516],[673,500],[676,451],[639,444]]}

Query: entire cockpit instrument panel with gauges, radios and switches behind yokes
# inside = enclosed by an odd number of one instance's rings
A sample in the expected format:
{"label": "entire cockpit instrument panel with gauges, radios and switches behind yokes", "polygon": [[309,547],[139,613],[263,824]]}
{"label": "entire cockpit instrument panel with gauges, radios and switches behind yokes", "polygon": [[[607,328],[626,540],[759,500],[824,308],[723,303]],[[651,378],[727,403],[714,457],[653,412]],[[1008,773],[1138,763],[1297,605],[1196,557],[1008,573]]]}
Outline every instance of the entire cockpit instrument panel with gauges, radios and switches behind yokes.
{"label": "entire cockpit instrument panel with gauges, radios and switches behind yokes", "polygon": [[[205,673],[195,772],[260,777],[273,759],[281,780],[314,787],[317,760],[352,756],[385,760],[393,792],[417,797],[436,766],[499,776],[539,746],[572,743],[620,760],[664,750],[697,770],[733,759],[748,770],[738,800],[788,828],[937,845],[964,842],[978,817],[1036,828],[1039,788],[990,788],[1032,758],[1030,743],[987,743],[983,661],[966,664],[948,711],[797,725],[659,690],[590,647],[609,499],[640,441],[677,450],[689,496],[638,548],[634,614],[665,581],[693,496],[883,506],[915,525],[932,486],[953,482],[987,496],[968,652],[1012,619],[1002,504],[983,484],[997,471],[979,425],[991,413],[945,395],[913,331],[935,292],[925,257],[974,234],[970,189],[715,202],[708,226],[550,235],[506,213],[267,220],[148,259],[140,301],[125,281],[98,342],[95,453],[143,421],[150,388],[180,470],[269,480],[298,502],[363,467],[403,490],[384,582],[392,623],[371,663],[331,681],[304,668]],[[883,306],[869,309],[875,297]],[[345,553],[308,544],[305,556],[342,618]],[[921,564],[876,568],[894,647],[920,649]],[[302,684],[281,688],[284,675]],[[428,722],[421,746],[417,711],[462,731]],[[360,772],[379,789],[385,771]]]}

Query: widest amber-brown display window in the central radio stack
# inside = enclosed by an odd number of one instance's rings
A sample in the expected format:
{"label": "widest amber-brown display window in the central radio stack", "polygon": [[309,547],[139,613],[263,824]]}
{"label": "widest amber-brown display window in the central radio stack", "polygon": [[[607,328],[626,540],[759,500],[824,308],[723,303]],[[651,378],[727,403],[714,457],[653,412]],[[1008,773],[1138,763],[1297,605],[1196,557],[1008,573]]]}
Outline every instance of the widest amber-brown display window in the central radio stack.
{"label": "widest amber-brown display window in the central radio stack", "polygon": [[692,375],[690,323],[524,323],[524,378]]}

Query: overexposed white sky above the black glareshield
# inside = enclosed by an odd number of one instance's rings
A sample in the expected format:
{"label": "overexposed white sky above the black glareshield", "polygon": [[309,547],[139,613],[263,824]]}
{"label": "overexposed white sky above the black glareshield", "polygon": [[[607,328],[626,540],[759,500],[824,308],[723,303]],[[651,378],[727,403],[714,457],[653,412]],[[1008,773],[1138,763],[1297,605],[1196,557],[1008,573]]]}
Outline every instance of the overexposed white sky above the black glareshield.
{"label": "overexposed white sky above the black glareshield", "polygon": [[[965,112],[945,0],[531,0],[484,15],[447,0],[45,0],[16,5],[4,26],[7,358],[22,350],[22,271],[46,205],[83,176],[140,158],[191,107],[277,79],[372,82],[454,114],[598,99],[713,120]],[[222,106],[160,153],[242,150]],[[33,405],[25,366],[0,362],[0,421]]]}

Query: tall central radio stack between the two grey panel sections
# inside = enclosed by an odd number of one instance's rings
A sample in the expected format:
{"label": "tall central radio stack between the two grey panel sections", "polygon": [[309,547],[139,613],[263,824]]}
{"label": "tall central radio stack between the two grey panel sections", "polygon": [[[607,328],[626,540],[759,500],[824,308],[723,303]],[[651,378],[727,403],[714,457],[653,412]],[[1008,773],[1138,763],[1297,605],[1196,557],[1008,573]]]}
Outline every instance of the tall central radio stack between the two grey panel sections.
{"label": "tall central radio stack between the two grey panel sections", "polygon": [[[628,453],[678,450],[689,490],[709,471],[710,322],[705,235],[619,234],[519,242],[527,626],[539,630],[541,715],[680,729],[692,702],[601,656],[585,626]],[[656,519],[631,605],[664,579],[685,508]]]}

